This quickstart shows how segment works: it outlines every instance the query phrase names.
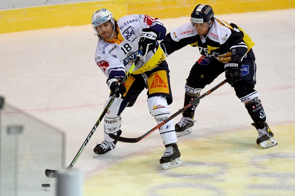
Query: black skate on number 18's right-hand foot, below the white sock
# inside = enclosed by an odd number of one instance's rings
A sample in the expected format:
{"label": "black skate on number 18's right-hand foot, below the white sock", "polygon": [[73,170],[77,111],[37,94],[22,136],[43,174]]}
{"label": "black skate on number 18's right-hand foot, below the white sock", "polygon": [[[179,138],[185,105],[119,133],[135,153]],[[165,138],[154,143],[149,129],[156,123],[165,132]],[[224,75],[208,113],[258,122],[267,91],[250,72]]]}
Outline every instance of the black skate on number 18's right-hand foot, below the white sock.
{"label": "black skate on number 18's right-hand foot, below the white sock", "polygon": [[163,157],[160,159],[163,169],[171,169],[181,165],[180,152],[177,144],[166,146]]}

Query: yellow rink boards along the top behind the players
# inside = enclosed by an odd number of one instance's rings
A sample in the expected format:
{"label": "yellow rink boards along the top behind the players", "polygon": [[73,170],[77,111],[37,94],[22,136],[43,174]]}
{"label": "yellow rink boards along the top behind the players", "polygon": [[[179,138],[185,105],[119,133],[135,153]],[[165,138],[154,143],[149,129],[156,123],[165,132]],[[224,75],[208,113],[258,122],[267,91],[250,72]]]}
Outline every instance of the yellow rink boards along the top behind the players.
{"label": "yellow rink boards along the top behind the players", "polygon": [[[218,15],[295,8],[295,2],[288,0],[203,1],[202,4],[211,5]],[[117,19],[142,13],[167,19],[189,16],[196,5],[192,0],[181,3],[176,0],[116,0],[0,10],[0,33],[90,24],[93,12],[101,8],[111,10]]]}

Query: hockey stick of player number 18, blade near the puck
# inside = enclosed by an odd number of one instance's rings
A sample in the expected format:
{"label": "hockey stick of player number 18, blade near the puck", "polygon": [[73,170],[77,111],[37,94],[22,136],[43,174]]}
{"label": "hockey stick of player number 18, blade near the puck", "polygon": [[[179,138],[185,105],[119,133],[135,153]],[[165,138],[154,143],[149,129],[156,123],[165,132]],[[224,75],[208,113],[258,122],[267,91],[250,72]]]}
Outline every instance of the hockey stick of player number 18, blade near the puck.
{"label": "hockey stick of player number 18, blade near the puck", "polygon": [[[120,85],[123,85],[125,83],[125,81],[129,77],[129,75],[131,74],[131,72],[135,68],[135,65],[137,65],[137,63],[139,62],[139,60],[140,60],[140,57],[137,56],[135,58],[135,61],[132,64],[132,66],[130,67],[130,69],[128,70],[128,72],[126,73],[126,75],[124,76],[124,78],[122,79]],[[116,94],[115,93],[110,97],[109,102],[107,103],[106,107],[102,111],[102,113],[101,113],[100,117],[98,118],[98,120],[96,121],[94,127],[91,129],[90,133],[88,134],[86,140],[82,144],[82,146],[81,146],[80,150],[78,151],[77,155],[75,156],[75,158],[72,160],[72,162],[70,163],[70,165],[66,169],[71,169],[75,165],[75,163],[77,162],[78,158],[80,157],[80,155],[84,151],[84,148],[85,148],[86,144],[88,143],[89,139],[91,138],[91,136],[93,135],[94,131],[96,130],[97,126],[100,124],[102,118],[106,114],[106,112],[109,109],[110,105],[112,105],[112,103],[114,102],[115,97],[116,97]],[[49,177],[49,178],[56,178],[57,177],[57,170],[46,169],[45,170],[45,175],[47,177]]]}

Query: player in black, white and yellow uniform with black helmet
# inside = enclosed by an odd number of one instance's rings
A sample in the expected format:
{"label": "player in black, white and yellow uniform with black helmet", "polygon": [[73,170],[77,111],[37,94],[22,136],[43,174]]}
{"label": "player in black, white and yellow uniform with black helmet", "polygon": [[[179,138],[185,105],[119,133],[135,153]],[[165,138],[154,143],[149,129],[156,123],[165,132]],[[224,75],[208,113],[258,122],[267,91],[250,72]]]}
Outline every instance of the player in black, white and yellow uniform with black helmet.
{"label": "player in black, white and yellow uniform with black helmet", "polygon": [[[191,14],[191,21],[168,33],[161,47],[168,56],[188,44],[197,46],[201,57],[187,78],[184,105],[200,96],[207,84],[225,72],[228,83],[245,104],[254,121],[252,125],[259,132],[256,143],[264,149],[276,145],[259,93],[254,90],[256,64],[251,38],[237,25],[214,18],[211,6],[200,4]],[[182,113],[183,117],[175,125],[177,136],[191,133],[198,104]]]}

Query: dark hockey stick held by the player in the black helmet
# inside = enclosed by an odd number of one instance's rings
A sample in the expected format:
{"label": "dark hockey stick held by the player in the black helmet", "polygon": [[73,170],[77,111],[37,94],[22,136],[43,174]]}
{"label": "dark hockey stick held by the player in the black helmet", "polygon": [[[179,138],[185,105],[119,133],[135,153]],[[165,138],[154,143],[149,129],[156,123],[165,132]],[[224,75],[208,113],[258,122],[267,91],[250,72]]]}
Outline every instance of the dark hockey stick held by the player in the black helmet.
{"label": "dark hockey stick held by the player in the black helmet", "polygon": [[163,126],[164,124],[166,124],[167,122],[169,122],[170,120],[172,120],[173,118],[175,118],[178,114],[181,114],[182,112],[186,111],[187,109],[189,109],[192,106],[194,106],[195,104],[197,104],[201,99],[203,99],[205,96],[207,96],[208,94],[210,94],[211,92],[213,92],[214,90],[216,90],[217,88],[219,88],[220,86],[224,85],[225,83],[227,83],[226,80],[220,82],[219,84],[217,84],[216,86],[214,86],[213,88],[211,88],[210,90],[208,90],[207,92],[205,92],[204,94],[202,94],[201,96],[197,97],[194,101],[191,101],[190,104],[188,104],[185,107],[179,109],[177,112],[175,112],[174,114],[172,114],[166,120],[162,121],[160,124],[158,124],[157,126],[155,126],[154,128],[152,128],[151,130],[149,130],[148,132],[144,133],[143,135],[141,135],[141,136],[139,136],[137,138],[120,137],[118,135],[114,135],[113,133],[110,133],[109,136],[111,138],[117,140],[117,141],[122,141],[122,142],[126,142],[126,143],[136,143],[136,142],[142,140],[143,138],[147,137],[151,133],[153,133],[155,130],[157,130],[158,128],[160,128],[161,126]]}

